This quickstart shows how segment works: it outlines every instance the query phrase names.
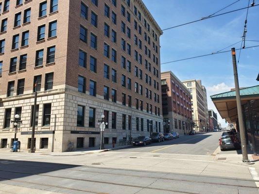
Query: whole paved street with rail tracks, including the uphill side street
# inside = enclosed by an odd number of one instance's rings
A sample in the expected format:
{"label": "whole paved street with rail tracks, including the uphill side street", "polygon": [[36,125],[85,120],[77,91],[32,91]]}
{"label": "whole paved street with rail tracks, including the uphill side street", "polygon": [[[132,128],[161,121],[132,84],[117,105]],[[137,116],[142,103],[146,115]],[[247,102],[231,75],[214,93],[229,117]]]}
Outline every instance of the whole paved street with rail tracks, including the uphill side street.
{"label": "whole paved street with rail tracks, including the uphill side street", "polygon": [[259,194],[246,166],[211,155],[220,134],[72,156],[0,153],[0,194]]}

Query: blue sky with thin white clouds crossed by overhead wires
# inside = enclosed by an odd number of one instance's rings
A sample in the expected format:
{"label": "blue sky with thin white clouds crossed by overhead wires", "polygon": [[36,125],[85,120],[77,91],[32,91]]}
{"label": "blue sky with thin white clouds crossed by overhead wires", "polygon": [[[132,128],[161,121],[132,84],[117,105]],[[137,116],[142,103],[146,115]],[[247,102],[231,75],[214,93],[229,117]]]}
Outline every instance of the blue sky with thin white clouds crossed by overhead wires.
{"label": "blue sky with thin white clouds crossed by overhead wires", "polygon": [[[209,16],[236,0],[143,0],[161,29]],[[253,0],[250,0],[250,3]],[[259,3],[259,0],[255,0]],[[248,0],[240,0],[219,12],[247,7]],[[163,32],[160,37],[161,63],[210,54],[242,40],[246,9],[202,20]],[[246,40],[259,40],[259,6],[249,8]],[[259,45],[247,41],[246,47]],[[241,43],[233,46],[241,48]],[[225,49],[229,50],[232,47]],[[237,51],[239,54],[239,51]],[[218,114],[223,127],[225,121],[210,96],[234,88],[232,56],[230,52],[161,65],[161,71],[171,70],[180,80],[202,80],[207,89],[208,109]],[[240,87],[259,85],[259,47],[243,49],[238,64]]]}

